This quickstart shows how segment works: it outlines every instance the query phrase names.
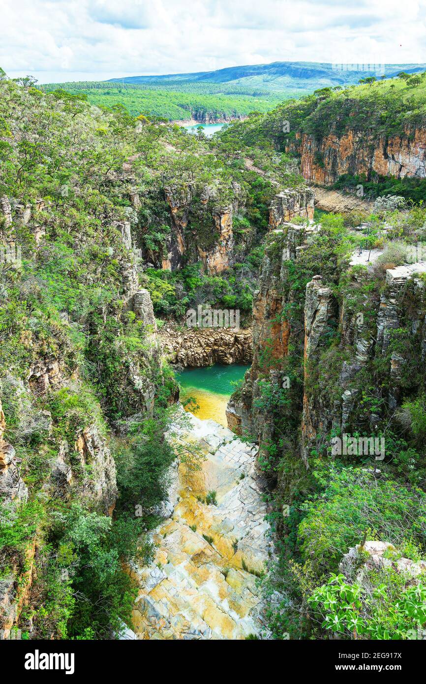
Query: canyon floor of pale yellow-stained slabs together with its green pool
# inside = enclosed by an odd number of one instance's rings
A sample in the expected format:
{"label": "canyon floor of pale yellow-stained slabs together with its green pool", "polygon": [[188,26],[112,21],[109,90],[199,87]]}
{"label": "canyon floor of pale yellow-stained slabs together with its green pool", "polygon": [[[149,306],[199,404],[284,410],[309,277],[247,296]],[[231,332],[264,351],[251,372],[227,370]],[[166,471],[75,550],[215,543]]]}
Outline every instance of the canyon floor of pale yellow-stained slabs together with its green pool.
{"label": "canyon floor of pale yellow-stained slabs together with its green pool", "polygon": [[[257,447],[226,425],[232,382],[247,366],[185,369],[183,396],[196,398],[197,416],[170,439],[202,453],[199,469],[177,460],[165,519],[153,531],[155,557],[132,566],[139,583],[133,610],[137,639],[267,638],[261,579],[272,553],[263,501],[265,482],[256,469]],[[212,419],[215,418],[215,420]]]}

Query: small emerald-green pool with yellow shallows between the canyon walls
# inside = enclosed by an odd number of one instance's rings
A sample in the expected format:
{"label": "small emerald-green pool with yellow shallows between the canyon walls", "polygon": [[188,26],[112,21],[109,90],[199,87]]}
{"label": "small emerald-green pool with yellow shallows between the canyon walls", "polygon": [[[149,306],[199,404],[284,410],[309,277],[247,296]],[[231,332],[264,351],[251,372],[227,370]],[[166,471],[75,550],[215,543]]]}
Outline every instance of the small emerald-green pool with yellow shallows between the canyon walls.
{"label": "small emerald-green pool with yellow shallows between the canyon walls", "polygon": [[206,368],[185,368],[176,373],[176,380],[181,385],[181,401],[194,397],[200,408],[194,410],[187,407],[202,420],[213,419],[226,427],[226,404],[235,386],[232,382],[242,380],[250,366],[239,364],[207,366]]}

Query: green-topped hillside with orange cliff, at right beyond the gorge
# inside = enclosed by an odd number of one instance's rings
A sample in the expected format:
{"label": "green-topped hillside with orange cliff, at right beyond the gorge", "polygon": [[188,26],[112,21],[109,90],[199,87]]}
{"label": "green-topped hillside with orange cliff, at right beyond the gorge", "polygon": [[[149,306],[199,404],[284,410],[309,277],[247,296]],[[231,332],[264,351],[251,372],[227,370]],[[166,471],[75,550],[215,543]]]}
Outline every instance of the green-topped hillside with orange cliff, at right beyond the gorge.
{"label": "green-topped hillside with orange cliff, at right beyond the gorge", "polygon": [[285,150],[304,178],[320,185],[425,200],[425,73],[362,80],[367,83],[321,88],[252,116],[222,140],[236,149]]}

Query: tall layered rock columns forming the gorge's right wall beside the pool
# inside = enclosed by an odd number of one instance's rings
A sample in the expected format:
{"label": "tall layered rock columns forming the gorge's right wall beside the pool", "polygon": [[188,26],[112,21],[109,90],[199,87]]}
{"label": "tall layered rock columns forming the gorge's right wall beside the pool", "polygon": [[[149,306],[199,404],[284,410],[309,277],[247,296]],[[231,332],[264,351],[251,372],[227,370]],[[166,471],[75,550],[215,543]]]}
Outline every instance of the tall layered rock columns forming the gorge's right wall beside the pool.
{"label": "tall layered rock columns forming the gorge's right wall beside the pool", "polygon": [[[389,268],[380,285],[372,267],[312,261],[310,235],[287,224],[268,237],[254,300],[253,363],[227,411],[229,427],[252,436],[262,454],[280,442],[276,421],[285,408],[286,420],[298,423],[294,448],[306,466],[311,453],[330,453],[332,434],[380,434],[404,395],[416,391],[426,354],[426,263]],[[310,273],[317,263],[318,272],[302,293],[306,263]],[[360,402],[366,383],[371,406]],[[274,416],[277,405],[283,409]]]}

